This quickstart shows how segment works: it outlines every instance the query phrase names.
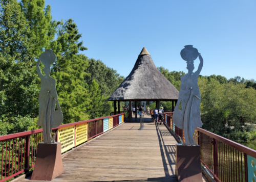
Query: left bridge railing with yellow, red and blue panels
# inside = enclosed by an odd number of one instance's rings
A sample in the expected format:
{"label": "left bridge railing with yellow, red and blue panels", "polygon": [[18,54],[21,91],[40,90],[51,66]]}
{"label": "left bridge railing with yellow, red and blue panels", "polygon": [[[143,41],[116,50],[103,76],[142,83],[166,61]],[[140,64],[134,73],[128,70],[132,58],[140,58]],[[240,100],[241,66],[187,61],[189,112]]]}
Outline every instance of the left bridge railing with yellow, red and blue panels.
{"label": "left bridge railing with yellow, red and blue panels", "polygon": [[[52,131],[53,134],[57,134],[56,141],[61,143],[61,153],[63,153],[109,131],[122,122],[124,122],[124,113],[63,124],[53,128]],[[43,141],[42,129],[0,136],[0,182],[33,168],[37,144]]]}

